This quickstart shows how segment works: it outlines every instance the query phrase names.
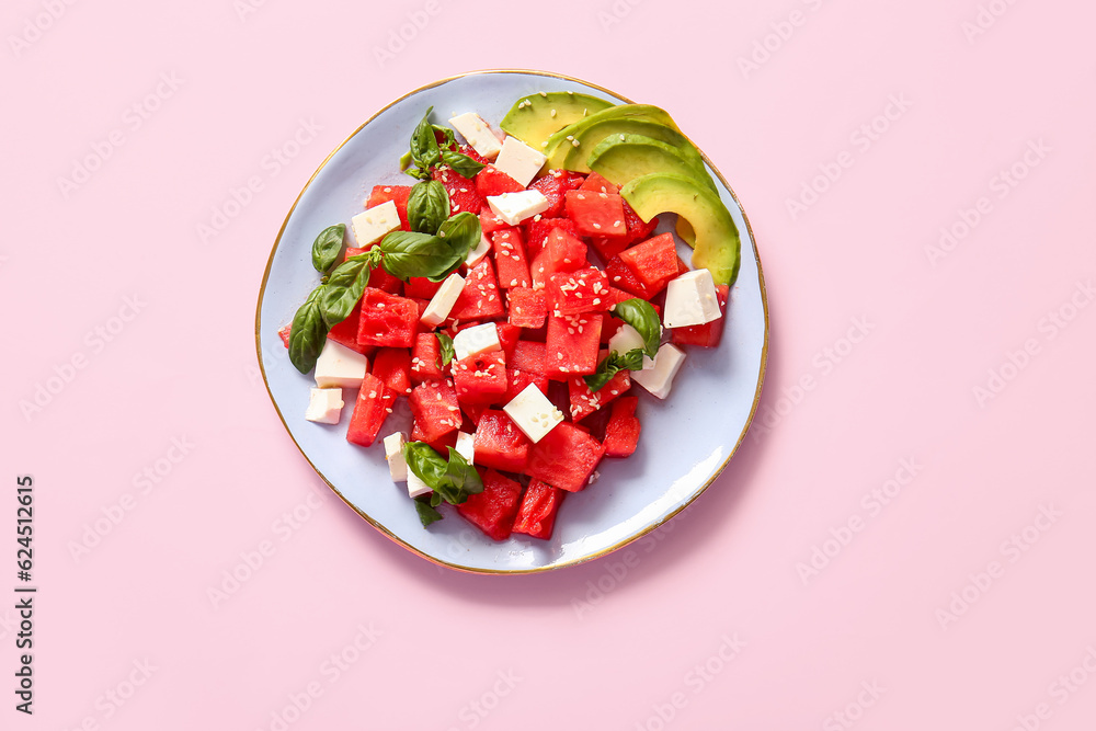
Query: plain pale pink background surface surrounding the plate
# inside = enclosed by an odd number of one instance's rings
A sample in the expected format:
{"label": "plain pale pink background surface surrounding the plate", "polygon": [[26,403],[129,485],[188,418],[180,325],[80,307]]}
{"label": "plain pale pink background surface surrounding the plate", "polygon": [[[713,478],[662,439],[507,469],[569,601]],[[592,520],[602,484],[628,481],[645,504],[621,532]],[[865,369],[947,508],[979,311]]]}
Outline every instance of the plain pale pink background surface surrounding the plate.
{"label": "plain pale pink background surface surrounding the plate", "polygon": [[[25,473],[39,593],[35,715],[5,689],[0,726],[1093,728],[1091,3],[246,1],[4,4],[0,593]],[[326,493],[253,338],[328,152],[499,67],[669,110],[750,216],[772,327],[711,489],[517,578],[439,569]],[[941,228],[962,236],[934,253]]]}

